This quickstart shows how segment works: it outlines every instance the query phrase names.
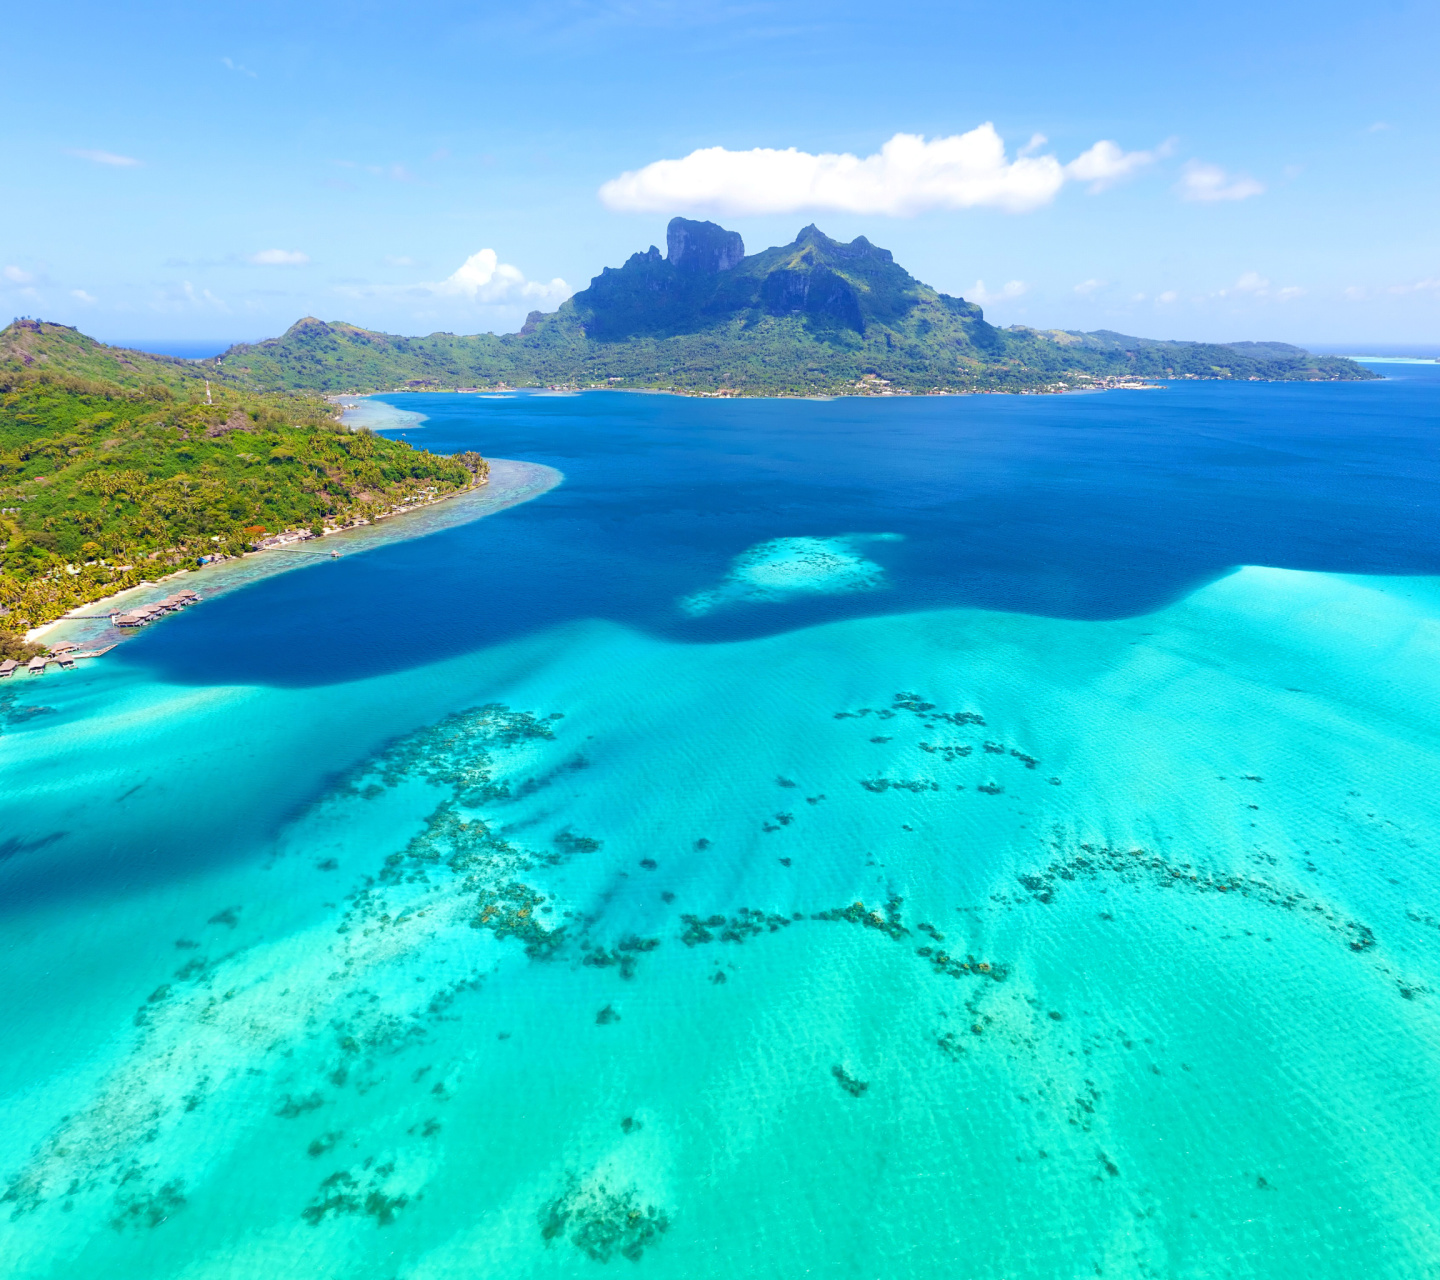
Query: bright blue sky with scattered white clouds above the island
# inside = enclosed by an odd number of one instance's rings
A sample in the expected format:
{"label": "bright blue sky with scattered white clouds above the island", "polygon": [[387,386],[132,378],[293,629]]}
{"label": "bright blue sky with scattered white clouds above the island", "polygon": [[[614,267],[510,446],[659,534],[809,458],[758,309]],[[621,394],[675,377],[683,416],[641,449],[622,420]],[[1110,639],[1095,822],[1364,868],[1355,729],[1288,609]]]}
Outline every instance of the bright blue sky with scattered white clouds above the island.
{"label": "bright blue sky with scattered white clouds above the island", "polygon": [[14,6],[0,317],[508,331],[674,215],[996,324],[1440,343],[1440,6]]}

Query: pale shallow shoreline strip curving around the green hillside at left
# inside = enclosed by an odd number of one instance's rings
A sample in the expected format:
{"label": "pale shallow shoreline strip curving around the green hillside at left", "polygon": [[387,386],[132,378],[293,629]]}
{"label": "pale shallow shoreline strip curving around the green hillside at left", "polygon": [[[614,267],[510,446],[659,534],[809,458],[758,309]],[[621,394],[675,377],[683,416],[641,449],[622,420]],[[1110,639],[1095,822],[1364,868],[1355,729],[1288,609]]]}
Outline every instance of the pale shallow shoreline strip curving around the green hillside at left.
{"label": "pale shallow shoreline strip curving around the green hillside at left", "polygon": [[[334,541],[337,538],[340,550],[360,554],[374,547],[409,541],[444,528],[469,524],[508,507],[518,507],[521,502],[528,502],[531,498],[549,492],[564,479],[563,472],[540,462],[517,462],[508,458],[488,461],[490,479],[482,485],[444,494],[416,507],[387,511],[369,524],[328,530],[320,537],[295,538],[295,541],[278,547],[262,547],[245,556],[204,564],[199,569],[177,569],[98,600],[78,605],[69,613],[26,632],[26,639],[33,642],[49,636],[52,641],[65,639],[79,644],[82,648],[120,644],[148,628],[120,631],[112,625],[109,616],[96,615],[118,612],[115,605],[121,600],[130,606],[138,606],[164,599],[179,579],[184,579],[192,589],[200,590],[203,599],[210,599],[265,577],[331,560],[331,551],[337,550]],[[325,543],[324,550],[321,550],[321,543]]]}

